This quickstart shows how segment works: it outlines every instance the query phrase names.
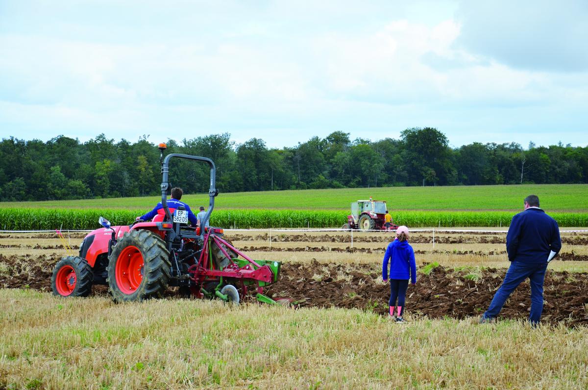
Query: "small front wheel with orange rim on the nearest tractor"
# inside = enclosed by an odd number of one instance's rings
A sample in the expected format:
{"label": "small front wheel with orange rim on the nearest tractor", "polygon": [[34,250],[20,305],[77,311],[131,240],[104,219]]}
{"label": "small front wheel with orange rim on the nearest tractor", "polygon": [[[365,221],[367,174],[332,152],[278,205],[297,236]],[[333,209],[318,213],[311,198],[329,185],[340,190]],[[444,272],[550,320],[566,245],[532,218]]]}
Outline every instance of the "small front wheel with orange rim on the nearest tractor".
{"label": "small front wheel with orange rim on the nearest tractor", "polygon": [[79,256],[65,256],[55,265],[51,276],[53,295],[88,296],[92,290],[92,267]]}

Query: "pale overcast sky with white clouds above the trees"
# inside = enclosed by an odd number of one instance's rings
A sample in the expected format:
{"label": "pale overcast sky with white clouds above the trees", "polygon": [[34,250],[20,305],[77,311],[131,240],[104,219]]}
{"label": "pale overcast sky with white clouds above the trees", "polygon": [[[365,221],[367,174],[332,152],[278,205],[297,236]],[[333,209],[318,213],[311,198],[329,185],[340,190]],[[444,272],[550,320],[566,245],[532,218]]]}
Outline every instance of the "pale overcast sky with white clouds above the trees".
{"label": "pale overcast sky with white clouds above the trees", "polygon": [[586,42],[585,0],[0,0],[0,138],[586,146]]}

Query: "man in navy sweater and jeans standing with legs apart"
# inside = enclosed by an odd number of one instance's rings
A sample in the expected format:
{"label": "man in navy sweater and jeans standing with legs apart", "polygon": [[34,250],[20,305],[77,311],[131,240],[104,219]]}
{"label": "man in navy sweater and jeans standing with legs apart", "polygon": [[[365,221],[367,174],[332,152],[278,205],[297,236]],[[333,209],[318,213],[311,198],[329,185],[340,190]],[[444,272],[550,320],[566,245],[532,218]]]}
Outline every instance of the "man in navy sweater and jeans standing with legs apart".
{"label": "man in navy sweater and jeans standing with legs apart", "polygon": [[527,196],[524,199],[524,211],[513,217],[506,234],[510,267],[480,323],[495,318],[510,294],[528,277],[531,285],[529,321],[537,325],[543,311],[543,280],[547,263],[560,249],[562,240],[557,222],[539,208],[539,197]]}

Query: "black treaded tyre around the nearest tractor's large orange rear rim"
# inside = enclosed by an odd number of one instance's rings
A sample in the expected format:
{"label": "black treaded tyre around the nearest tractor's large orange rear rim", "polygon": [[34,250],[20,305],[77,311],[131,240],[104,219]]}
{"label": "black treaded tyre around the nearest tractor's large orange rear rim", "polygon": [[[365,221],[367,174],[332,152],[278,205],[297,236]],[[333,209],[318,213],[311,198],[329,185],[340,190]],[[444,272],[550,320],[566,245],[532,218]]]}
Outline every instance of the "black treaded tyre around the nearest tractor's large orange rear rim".
{"label": "black treaded tyre around the nearest tractor's large orange rear rim", "polygon": [[[116,285],[114,273],[119,254],[129,245],[138,247],[143,254],[143,280],[135,292],[125,294]],[[108,271],[106,279],[108,289],[116,302],[140,302],[151,298],[161,298],[172,277],[169,252],[165,243],[157,234],[145,229],[133,229],[118,240],[108,258],[106,270]]]}

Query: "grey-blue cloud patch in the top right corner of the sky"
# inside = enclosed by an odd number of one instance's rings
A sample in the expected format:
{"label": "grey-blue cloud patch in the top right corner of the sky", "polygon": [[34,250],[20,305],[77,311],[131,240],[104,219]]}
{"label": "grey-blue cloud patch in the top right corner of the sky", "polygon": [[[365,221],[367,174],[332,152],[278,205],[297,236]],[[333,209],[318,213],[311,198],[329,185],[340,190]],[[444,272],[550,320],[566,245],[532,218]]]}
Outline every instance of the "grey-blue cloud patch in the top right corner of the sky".
{"label": "grey-blue cloud patch in the top right corner of the sky", "polygon": [[467,50],[526,70],[588,70],[588,2],[461,1]]}

